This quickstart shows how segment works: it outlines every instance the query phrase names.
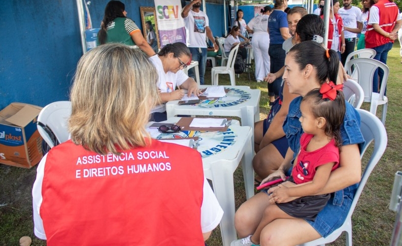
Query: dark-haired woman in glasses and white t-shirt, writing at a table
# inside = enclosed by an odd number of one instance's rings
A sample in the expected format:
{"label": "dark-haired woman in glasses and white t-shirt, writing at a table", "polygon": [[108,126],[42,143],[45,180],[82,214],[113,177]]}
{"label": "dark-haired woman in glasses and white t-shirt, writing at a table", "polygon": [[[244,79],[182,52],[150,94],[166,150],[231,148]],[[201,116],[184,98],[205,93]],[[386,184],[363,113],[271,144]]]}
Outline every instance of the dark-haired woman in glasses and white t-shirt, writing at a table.
{"label": "dark-haired woman in glasses and white t-shirt, writing at a table", "polygon": [[[182,71],[191,62],[191,53],[185,44],[167,44],[149,59],[158,71],[157,89],[160,97],[160,103],[151,110],[150,121],[160,122],[167,119],[166,102],[182,99],[184,89],[188,90],[188,96],[199,96],[199,89],[194,79]],[[176,86],[178,89],[175,89]]]}

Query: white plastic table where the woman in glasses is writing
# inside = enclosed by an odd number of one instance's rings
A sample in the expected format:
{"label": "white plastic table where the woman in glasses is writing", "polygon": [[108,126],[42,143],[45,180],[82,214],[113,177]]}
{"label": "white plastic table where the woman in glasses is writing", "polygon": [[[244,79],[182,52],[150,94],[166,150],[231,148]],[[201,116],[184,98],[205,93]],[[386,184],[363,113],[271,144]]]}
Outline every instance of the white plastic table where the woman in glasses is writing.
{"label": "white plastic table where the woman in glasses is writing", "polygon": [[[211,85],[199,85],[207,88]],[[237,116],[242,126],[249,126],[253,130],[252,143],[254,143],[254,122],[259,121],[259,101],[261,91],[250,89],[249,86],[224,86],[229,89],[226,97],[218,100],[205,100],[197,105],[178,105],[178,101],[166,103],[166,114],[169,117],[176,115],[211,115],[211,116]],[[254,144],[252,146],[254,151]]]}

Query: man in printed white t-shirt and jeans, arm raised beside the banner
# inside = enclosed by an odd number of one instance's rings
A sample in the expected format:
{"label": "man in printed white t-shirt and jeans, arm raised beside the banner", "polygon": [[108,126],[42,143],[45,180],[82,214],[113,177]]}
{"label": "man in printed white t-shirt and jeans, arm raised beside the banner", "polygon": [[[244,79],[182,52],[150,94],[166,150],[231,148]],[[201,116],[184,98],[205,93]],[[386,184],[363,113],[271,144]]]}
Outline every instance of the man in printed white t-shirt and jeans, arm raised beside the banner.
{"label": "man in printed white t-shirt and jeans, arm raised beside the banner", "polygon": [[[219,47],[215,42],[209,27],[208,16],[200,10],[202,0],[191,0],[181,13],[187,33],[187,47],[190,49],[192,60],[198,61],[199,83],[204,84],[205,67],[207,64],[207,37],[214,45],[215,52]],[[188,71],[188,76],[195,78],[194,68]]]}

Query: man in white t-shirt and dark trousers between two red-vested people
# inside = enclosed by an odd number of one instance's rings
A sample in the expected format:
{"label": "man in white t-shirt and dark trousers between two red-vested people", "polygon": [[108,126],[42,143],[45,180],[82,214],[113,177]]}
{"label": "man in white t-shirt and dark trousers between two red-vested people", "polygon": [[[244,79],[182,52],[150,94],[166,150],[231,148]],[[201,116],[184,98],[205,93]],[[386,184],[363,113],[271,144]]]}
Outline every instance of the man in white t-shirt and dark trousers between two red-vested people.
{"label": "man in white t-shirt and dark trousers between two red-vested people", "polygon": [[351,5],[352,0],[343,0],[343,7],[339,9],[344,22],[345,52],[341,54],[342,65],[345,66],[346,57],[354,51],[357,34],[361,33],[361,10]]}

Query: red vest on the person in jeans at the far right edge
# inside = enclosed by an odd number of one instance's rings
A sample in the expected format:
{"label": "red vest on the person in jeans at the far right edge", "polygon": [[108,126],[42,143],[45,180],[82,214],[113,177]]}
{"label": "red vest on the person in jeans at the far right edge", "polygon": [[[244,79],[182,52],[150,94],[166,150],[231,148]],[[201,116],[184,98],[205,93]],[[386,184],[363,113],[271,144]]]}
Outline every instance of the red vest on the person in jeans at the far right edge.
{"label": "red vest on the person in jeans at the far right edge", "polygon": [[[395,26],[396,17],[398,15],[398,6],[395,3],[389,2],[388,0],[380,0],[374,6],[377,6],[379,11],[379,25],[385,30],[385,32],[392,32],[392,29]],[[370,19],[370,12],[368,12],[368,18]],[[367,24],[364,42],[366,48],[374,48],[389,42],[393,43],[394,41],[377,33],[374,30],[373,25]]]}

